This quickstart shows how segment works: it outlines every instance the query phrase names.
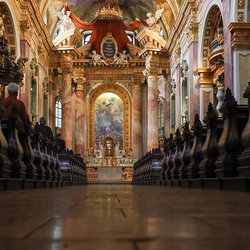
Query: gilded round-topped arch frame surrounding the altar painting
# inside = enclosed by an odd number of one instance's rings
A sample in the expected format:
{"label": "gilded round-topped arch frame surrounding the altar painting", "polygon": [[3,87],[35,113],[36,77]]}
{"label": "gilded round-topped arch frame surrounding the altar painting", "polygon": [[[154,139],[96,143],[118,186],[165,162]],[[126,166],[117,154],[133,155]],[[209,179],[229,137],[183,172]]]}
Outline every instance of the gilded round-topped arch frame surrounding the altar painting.
{"label": "gilded round-topped arch frame surrounding the altar painting", "polygon": [[132,148],[131,117],[132,105],[130,93],[119,83],[104,82],[96,85],[87,96],[87,147],[95,146],[95,100],[101,94],[114,93],[123,101],[123,149]]}

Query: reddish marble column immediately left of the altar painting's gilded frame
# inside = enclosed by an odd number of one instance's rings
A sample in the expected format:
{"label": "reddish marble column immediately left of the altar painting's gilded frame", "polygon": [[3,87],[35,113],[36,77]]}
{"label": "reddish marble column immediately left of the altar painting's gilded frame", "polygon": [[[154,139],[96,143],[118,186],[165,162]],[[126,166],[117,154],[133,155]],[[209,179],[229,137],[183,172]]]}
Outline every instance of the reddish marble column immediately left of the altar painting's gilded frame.
{"label": "reddish marble column immediately left of the altar painting's gilded frame", "polygon": [[86,131],[85,131],[85,98],[84,98],[84,84],[85,78],[78,78],[76,87],[76,130],[75,130],[75,150],[76,154],[80,154],[84,157],[85,142],[86,142]]}

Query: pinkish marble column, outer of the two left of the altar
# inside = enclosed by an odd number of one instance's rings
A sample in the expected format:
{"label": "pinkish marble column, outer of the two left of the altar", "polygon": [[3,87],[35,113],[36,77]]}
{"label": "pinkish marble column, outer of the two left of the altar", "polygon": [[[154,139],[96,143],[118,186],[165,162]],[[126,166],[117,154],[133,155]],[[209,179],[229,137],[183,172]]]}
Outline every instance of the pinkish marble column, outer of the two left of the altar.
{"label": "pinkish marble column, outer of the two left of the altar", "polygon": [[72,149],[72,108],[71,108],[71,71],[63,70],[62,79],[62,139],[66,148]]}

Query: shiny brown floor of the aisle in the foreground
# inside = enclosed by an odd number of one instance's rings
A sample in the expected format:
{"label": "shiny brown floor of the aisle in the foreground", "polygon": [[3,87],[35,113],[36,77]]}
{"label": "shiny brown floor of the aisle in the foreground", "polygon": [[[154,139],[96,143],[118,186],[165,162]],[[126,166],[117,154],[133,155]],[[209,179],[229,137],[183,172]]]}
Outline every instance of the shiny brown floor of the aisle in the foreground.
{"label": "shiny brown floor of the aisle in the foreground", "polygon": [[0,249],[250,249],[250,194],[88,185],[0,192]]}

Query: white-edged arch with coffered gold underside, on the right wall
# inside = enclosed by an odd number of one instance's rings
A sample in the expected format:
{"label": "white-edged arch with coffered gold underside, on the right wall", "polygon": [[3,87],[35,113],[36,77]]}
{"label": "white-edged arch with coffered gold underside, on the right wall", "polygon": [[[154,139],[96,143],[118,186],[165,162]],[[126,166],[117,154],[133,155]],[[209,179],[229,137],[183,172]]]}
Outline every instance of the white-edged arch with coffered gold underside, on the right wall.
{"label": "white-edged arch with coffered gold underside, on the right wall", "polygon": [[[202,20],[201,25],[201,40],[199,43],[199,50],[198,50],[198,68],[208,68],[208,55],[209,55],[209,47],[211,44],[211,24],[215,22],[217,18],[217,14],[221,14],[221,18],[223,20],[223,12],[222,12],[222,5],[221,2],[218,0],[208,1],[207,5],[204,6],[204,9],[207,11],[205,12],[204,18]],[[207,52],[207,53],[206,53]]]}

